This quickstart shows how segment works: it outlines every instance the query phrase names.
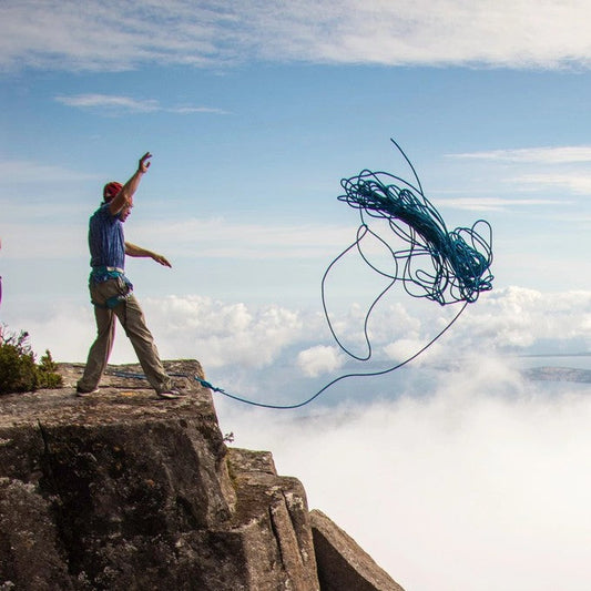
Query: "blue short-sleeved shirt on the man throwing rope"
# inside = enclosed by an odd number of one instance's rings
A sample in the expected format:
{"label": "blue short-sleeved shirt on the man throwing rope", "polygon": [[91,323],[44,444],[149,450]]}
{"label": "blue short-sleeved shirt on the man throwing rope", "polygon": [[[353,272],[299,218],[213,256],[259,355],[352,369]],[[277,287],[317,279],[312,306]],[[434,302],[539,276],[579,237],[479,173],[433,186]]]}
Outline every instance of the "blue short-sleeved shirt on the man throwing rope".
{"label": "blue short-sleeved shirt on the man throwing rope", "polygon": [[101,205],[89,223],[89,247],[91,267],[125,268],[125,237],[123,222]]}

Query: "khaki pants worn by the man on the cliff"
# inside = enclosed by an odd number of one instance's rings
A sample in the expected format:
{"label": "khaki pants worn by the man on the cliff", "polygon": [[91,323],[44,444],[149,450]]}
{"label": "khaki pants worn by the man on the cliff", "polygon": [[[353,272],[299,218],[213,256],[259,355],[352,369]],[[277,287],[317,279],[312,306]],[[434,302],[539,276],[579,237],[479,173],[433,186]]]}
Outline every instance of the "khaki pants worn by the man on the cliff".
{"label": "khaki pants worn by the man on the cliff", "polygon": [[78,383],[78,388],[82,391],[92,391],[99,386],[99,381],[106,368],[113,342],[115,337],[115,316],[121,326],[125,329],[137,359],[144,370],[145,377],[156,393],[163,393],[171,388],[171,378],[164,371],[160,360],[160,355],[154,344],[152,333],[145,325],[142,308],[133,294],[118,304],[114,308],[100,307],[110,298],[118,294],[124,295],[129,291],[122,278],[109,279],[106,282],[90,285],[92,302],[99,304],[94,306],[94,317],[96,319],[96,340],[92,344],[84,375]]}

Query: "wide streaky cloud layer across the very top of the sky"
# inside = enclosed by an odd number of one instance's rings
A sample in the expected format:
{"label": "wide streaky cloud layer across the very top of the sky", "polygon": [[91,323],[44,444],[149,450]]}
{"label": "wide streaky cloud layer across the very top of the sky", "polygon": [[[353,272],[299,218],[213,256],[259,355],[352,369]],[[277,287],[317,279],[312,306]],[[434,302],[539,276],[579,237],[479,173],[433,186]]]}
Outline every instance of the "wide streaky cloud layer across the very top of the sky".
{"label": "wide streaky cloud layer across the very top of the sky", "polygon": [[0,8],[0,55],[6,69],[124,70],[248,59],[587,68],[590,17],[584,0],[11,0]]}

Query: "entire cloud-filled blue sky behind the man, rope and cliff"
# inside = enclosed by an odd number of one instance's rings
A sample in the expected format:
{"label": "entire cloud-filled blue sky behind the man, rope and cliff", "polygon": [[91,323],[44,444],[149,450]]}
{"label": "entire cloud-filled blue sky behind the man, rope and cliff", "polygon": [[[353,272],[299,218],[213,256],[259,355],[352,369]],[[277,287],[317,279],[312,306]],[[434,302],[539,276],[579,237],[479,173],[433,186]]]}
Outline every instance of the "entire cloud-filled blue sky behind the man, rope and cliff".
{"label": "entire cloud-filled blue sky behind the man, rope and cliff", "polygon": [[[490,530],[500,571],[520,581],[514,589],[556,589],[550,582],[565,568],[571,574],[562,588],[583,589],[580,573],[587,568],[589,574],[589,567],[577,552],[589,543],[591,526],[581,518],[587,506],[553,488],[540,498],[539,486],[554,476],[562,492],[591,492],[589,477],[580,476],[591,473],[581,451],[589,444],[588,390],[571,385],[542,394],[520,377],[516,356],[589,351],[590,17],[582,0],[6,0],[0,320],[29,330],[38,351],[49,347],[58,360],[84,360],[94,330],[85,287],[88,217],[104,182],[125,181],[150,151],[153,164],[126,238],[164,254],[173,268],[134,259],[128,274],[162,356],[198,358],[212,381],[246,396],[304,399],[357,367],[328,334],[320,278],[358,225],[356,212],[337,201],[340,179],[366,167],[411,179],[394,137],[449,227],[480,217],[491,223],[495,289],[411,368],[342,384],[318,399],[312,412],[328,425],[320,429],[325,441],[294,418],[305,415],[277,422],[273,414],[226,401],[218,403],[223,426],[241,446],[271,448],[279,468],[302,476],[310,502],[328,514],[326,505],[338,496],[339,522],[409,589],[432,589],[430,575],[438,589],[444,580],[455,590],[496,588],[493,564],[475,571],[479,588],[469,569],[469,587],[446,570],[473,562],[472,551],[491,550],[486,536],[462,546],[475,523]],[[380,285],[354,257],[330,285],[339,335],[357,350],[365,310]],[[455,313],[394,291],[370,325],[370,368],[408,357]],[[588,359],[571,363],[589,369]],[[134,360],[122,334],[112,360]],[[548,429],[556,439],[547,439]],[[295,451],[284,446],[283,432],[297,442]],[[518,459],[512,462],[505,448],[489,449],[490,439],[511,441]],[[363,463],[363,455],[371,455],[369,440],[389,449],[388,470],[376,467],[388,482],[399,476],[430,490],[426,475],[439,473],[441,461],[463,467],[448,476],[444,500],[452,514],[468,495],[471,512],[449,560],[436,560],[438,549],[427,548],[430,573],[418,559],[425,539],[405,514],[357,513],[356,495],[371,507],[386,497],[376,500],[348,485],[347,496],[332,488],[340,480],[322,478],[342,454],[358,454]],[[333,454],[314,454],[309,441],[326,442]],[[420,456],[411,456],[416,463],[395,452],[409,441]],[[548,446],[553,460],[546,473],[536,449]],[[314,456],[305,469],[302,449]],[[482,451],[489,471],[475,468],[469,449]],[[412,480],[409,471],[424,478]],[[361,472],[342,478],[364,479]],[[503,519],[517,524],[505,528],[505,538],[499,521],[487,518],[500,510],[498,498],[470,488],[477,481],[490,491],[490,479],[508,483],[493,490],[509,499]],[[400,503],[419,495],[427,512],[448,514],[425,490],[400,490]],[[530,500],[538,496],[540,514],[556,514],[559,503],[570,503],[572,514],[528,530],[536,517],[520,505],[519,490]],[[367,519],[385,526],[368,532]],[[439,540],[458,520],[431,522],[426,537]],[[416,553],[412,544],[386,543],[391,530],[415,540]],[[529,546],[518,530],[531,533]],[[547,560],[547,552],[557,553],[552,546],[532,541],[552,536],[562,554],[572,550],[569,560]],[[530,549],[522,556],[529,578],[511,567],[513,543],[520,552]],[[533,575],[541,562],[547,570]]]}

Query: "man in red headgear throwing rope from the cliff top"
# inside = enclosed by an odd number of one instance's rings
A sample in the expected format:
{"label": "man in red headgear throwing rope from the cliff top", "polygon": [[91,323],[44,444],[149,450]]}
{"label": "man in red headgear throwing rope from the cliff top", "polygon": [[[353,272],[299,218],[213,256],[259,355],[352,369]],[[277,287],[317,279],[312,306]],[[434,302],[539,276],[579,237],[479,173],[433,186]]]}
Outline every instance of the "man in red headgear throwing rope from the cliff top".
{"label": "man in red headgear throwing rope from the cliff top", "polygon": [[133,195],[150,167],[151,157],[152,154],[146,152],[140,159],[137,170],[124,185],[116,182],[108,183],[103,190],[104,201],[90,218],[89,246],[92,272],[89,288],[94,305],[98,335],[90,348],[84,374],[77,386],[78,396],[99,391],[99,381],[113,347],[115,316],[125,329],[144,374],[156,394],[161,398],[177,398],[180,395],[172,388],[172,380],[162,366],[152,334],[133,295],[133,286],[124,275],[125,255],[150,257],[161,265],[171,266],[164,256],[125,242],[123,235],[123,224],[133,207]]}

